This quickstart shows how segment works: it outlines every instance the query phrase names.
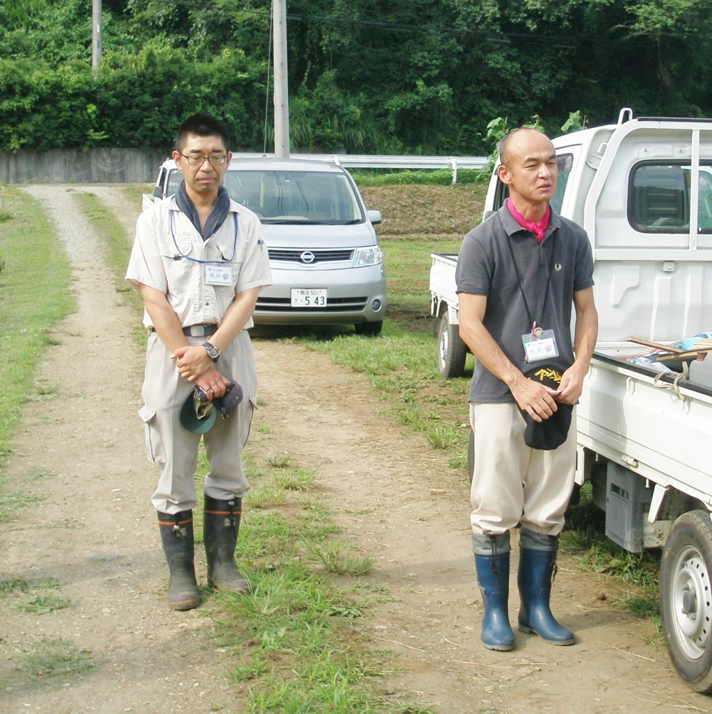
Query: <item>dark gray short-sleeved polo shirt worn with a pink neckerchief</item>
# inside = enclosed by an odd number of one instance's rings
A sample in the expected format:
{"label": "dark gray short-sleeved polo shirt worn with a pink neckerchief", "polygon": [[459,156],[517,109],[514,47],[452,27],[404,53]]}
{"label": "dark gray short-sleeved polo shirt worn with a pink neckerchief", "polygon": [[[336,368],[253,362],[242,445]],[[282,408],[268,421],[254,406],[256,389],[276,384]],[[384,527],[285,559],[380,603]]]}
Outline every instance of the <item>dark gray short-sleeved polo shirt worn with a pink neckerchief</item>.
{"label": "dark gray short-sleeved polo shirt worn with a pink neckerchief", "polygon": [[[455,273],[458,293],[487,297],[484,326],[508,359],[526,372],[522,335],[532,322],[556,334],[558,357],[542,361],[563,372],[573,363],[573,293],[593,285],[586,231],[551,211],[543,241],[517,223],[506,205],[463,239]],[[471,402],[513,402],[506,384],[475,365]]]}

